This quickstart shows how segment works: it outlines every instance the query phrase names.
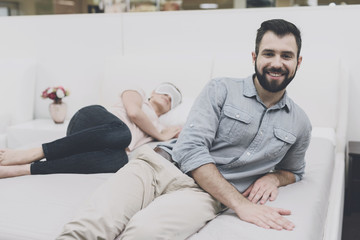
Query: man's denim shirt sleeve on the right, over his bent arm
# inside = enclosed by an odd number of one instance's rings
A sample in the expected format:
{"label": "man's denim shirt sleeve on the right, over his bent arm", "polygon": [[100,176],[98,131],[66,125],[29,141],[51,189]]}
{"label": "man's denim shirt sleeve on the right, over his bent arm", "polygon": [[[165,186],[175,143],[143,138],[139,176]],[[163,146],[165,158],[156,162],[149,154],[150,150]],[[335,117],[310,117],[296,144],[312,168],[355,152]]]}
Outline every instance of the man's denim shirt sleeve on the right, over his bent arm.
{"label": "man's denim shirt sleeve on the right, over his bent arm", "polygon": [[275,166],[276,170],[285,170],[295,175],[296,182],[303,178],[305,173],[305,153],[311,140],[311,124],[306,116],[300,121],[303,123],[301,134],[288,150],[284,158]]}

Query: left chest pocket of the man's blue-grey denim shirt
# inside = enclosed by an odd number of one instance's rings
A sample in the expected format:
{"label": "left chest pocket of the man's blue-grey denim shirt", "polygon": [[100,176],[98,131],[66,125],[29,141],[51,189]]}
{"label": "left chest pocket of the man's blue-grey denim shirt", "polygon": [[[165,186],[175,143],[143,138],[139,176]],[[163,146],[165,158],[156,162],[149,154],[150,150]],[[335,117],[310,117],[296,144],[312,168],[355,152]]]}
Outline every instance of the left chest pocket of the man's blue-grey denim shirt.
{"label": "left chest pocket of the man's blue-grey denim shirt", "polygon": [[233,106],[224,106],[220,120],[218,137],[230,143],[241,141],[244,133],[248,131],[252,116]]}

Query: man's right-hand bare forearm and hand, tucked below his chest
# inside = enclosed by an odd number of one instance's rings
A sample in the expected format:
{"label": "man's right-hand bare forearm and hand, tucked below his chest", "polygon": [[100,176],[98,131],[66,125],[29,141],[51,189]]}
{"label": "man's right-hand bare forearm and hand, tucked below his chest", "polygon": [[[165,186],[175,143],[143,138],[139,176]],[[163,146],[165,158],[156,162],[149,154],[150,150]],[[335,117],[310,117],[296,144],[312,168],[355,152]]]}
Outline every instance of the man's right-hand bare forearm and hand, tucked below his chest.
{"label": "man's right-hand bare forearm and hand, tucked below his chest", "polygon": [[274,201],[278,196],[278,188],[295,182],[295,175],[292,172],[277,170],[268,173],[256,180],[243,193],[249,201],[265,204],[267,200]]}

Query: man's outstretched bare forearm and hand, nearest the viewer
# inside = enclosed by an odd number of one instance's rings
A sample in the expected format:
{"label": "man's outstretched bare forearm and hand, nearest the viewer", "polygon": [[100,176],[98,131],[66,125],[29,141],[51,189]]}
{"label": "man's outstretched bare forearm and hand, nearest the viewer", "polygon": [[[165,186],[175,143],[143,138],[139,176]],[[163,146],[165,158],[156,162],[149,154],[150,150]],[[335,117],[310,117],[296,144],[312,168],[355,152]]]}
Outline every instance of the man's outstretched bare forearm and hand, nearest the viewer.
{"label": "man's outstretched bare forearm and hand, nearest the viewer", "polygon": [[241,220],[267,229],[292,230],[295,227],[292,222],[282,216],[291,214],[289,210],[250,202],[221,175],[214,164],[202,165],[191,174],[200,187],[234,210]]}

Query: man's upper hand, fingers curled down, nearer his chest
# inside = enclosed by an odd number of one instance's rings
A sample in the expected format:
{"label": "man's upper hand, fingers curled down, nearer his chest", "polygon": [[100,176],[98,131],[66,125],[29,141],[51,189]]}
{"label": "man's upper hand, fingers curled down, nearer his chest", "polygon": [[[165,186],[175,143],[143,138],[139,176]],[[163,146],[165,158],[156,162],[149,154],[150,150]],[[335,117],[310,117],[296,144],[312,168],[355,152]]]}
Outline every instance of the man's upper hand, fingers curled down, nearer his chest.
{"label": "man's upper hand, fingers curled down, nearer his chest", "polygon": [[267,174],[246,189],[243,193],[251,202],[265,204],[267,200],[274,201],[279,193],[278,187],[280,182],[274,174]]}

